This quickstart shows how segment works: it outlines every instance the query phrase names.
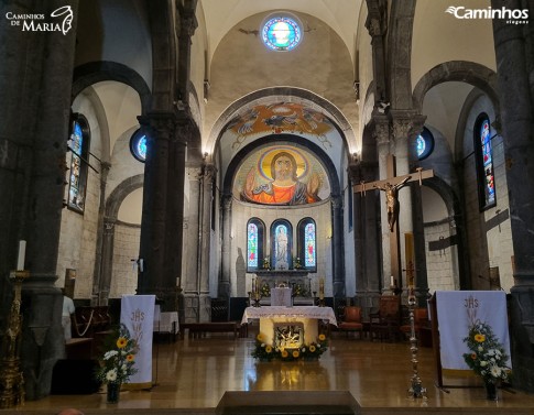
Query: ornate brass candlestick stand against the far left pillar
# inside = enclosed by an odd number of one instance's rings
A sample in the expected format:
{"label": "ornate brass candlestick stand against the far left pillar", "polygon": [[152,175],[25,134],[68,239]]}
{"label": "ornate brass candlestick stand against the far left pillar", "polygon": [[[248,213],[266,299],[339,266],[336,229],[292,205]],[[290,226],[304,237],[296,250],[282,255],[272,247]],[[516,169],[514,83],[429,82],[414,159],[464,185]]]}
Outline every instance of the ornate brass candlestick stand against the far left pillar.
{"label": "ornate brass candlestick stand against the far left pillar", "polygon": [[20,342],[22,337],[21,287],[30,272],[14,271],[14,297],[2,336],[0,360],[0,408],[24,403],[24,376],[20,369]]}

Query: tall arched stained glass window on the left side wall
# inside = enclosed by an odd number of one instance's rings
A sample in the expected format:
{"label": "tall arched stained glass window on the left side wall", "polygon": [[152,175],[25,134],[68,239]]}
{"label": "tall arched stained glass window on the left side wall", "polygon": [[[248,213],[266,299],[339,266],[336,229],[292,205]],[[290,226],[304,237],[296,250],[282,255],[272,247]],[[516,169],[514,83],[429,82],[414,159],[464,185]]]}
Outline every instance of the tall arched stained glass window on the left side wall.
{"label": "tall arched stained glass window on the left side wall", "polygon": [[87,119],[73,114],[68,150],[70,151],[70,173],[68,178],[67,207],[84,212],[87,188],[87,167],[89,160],[90,130]]}

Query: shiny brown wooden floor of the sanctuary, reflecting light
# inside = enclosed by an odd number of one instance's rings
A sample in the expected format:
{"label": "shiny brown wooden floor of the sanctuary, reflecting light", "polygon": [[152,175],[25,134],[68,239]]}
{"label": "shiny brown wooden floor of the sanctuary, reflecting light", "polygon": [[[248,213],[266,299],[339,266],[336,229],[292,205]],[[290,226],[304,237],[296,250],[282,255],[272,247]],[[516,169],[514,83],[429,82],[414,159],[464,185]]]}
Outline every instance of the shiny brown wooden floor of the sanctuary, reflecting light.
{"label": "shiny brown wooden floor of the sanctuary, reflecting light", "polygon": [[154,345],[152,390],[121,392],[116,405],[106,403],[103,392],[50,395],[0,411],[0,415],[52,415],[66,407],[76,407],[86,415],[230,414],[228,408],[217,408],[227,392],[226,402],[242,403],[237,413],[258,413],[252,407],[243,409],[247,402],[258,408],[285,405],[288,400],[320,408],[339,405],[350,396],[358,404],[357,414],[534,414],[534,395],[500,390],[497,402],[487,401],[477,379],[445,379],[445,385],[460,387],[435,387],[431,348],[418,352],[418,374],[428,398],[413,400],[407,393],[413,374],[407,342],[371,342],[334,332],[328,351],[318,362],[257,362],[251,357],[253,336],[250,330],[248,338],[237,339],[226,334],[186,337],[176,342],[161,339]]}

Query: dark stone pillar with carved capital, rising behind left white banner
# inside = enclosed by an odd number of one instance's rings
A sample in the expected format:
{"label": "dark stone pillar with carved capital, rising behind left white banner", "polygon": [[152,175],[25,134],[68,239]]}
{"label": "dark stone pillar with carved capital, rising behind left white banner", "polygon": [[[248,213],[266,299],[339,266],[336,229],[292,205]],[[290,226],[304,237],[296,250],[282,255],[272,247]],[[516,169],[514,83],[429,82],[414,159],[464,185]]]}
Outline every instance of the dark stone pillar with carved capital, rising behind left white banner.
{"label": "dark stone pillar with carved capital, rising behind left white banner", "polygon": [[162,310],[177,310],[182,274],[185,146],[194,125],[171,112],[141,118],[150,125],[144,167],[138,294],[155,294]]}

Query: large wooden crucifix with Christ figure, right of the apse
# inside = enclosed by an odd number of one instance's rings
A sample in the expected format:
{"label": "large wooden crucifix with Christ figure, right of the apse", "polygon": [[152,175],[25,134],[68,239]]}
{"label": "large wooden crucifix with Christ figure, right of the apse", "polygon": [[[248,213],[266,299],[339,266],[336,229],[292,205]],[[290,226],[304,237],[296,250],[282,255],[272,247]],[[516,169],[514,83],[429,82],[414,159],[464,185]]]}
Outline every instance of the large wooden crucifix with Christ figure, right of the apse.
{"label": "large wooden crucifix with Christ figure, right of the apse", "polygon": [[386,172],[388,178],[369,183],[361,182],[360,184],[355,185],[352,190],[355,193],[361,193],[363,196],[366,196],[366,192],[368,190],[380,189],[385,193],[385,207],[388,210],[388,225],[390,228],[391,275],[393,276],[392,285],[396,285],[399,282],[399,288],[401,288],[401,244],[399,239],[397,222],[400,204],[397,193],[399,189],[404,187],[410,182],[419,182],[421,186],[423,184],[423,179],[434,177],[434,171],[424,171],[423,168],[417,167],[415,173],[396,176],[395,156],[389,154]]}

